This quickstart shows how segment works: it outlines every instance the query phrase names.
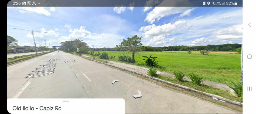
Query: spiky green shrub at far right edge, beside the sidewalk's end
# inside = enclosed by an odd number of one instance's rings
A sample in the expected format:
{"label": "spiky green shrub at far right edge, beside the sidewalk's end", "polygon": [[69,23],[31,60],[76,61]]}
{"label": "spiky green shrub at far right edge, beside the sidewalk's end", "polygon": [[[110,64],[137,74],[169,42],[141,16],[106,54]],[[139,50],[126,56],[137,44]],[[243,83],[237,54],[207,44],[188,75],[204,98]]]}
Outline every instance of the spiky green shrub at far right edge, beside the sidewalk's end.
{"label": "spiky green shrub at far right edge, beside the sidewalk's end", "polygon": [[231,82],[227,82],[229,88],[233,89],[235,91],[235,94],[238,96],[238,97],[242,97],[243,96],[243,84],[242,82],[234,82],[234,81],[231,81]]}

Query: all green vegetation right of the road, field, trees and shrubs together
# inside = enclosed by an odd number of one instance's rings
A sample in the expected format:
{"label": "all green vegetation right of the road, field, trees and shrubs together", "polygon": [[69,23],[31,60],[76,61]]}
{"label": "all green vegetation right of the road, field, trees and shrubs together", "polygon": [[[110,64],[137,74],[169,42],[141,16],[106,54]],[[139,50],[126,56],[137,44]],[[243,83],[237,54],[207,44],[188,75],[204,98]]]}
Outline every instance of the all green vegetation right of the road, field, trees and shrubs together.
{"label": "all green vegetation right of the road, field, trees and shrubs together", "polygon": [[[100,48],[96,48],[93,51],[85,42],[76,39],[75,41],[62,42],[63,47],[60,49],[77,55],[94,56],[96,58],[94,60],[96,61],[104,62],[104,59],[108,59],[111,61],[148,67],[149,76],[194,88],[202,92],[219,95],[234,101],[242,101],[242,86],[239,85],[239,83],[230,83],[232,81],[239,81],[241,76],[240,44],[192,47],[169,46],[163,48],[160,47],[160,49],[158,49],[158,47],[151,48],[150,46],[142,46],[140,43],[141,39],[142,37],[139,38],[135,35],[132,38],[123,39],[116,48],[101,48],[103,51],[99,50]],[[79,52],[76,51],[77,48],[79,48]],[[158,51],[143,51],[150,50],[150,48],[155,50],[158,49]],[[104,51],[104,49],[115,49],[116,51]],[[173,51],[177,49],[178,51]],[[98,52],[95,52],[96,50]],[[230,52],[210,52],[210,50],[229,50]],[[187,54],[187,52],[189,54]],[[117,58],[115,58],[116,56]],[[107,63],[107,61],[105,61],[105,63]],[[159,75],[157,74],[157,70],[173,73],[175,77]],[[185,80],[185,76],[188,76],[191,81]],[[204,85],[204,80],[229,84],[229,87],[235,91],[237,96],[232,95],[230,91],[223,91],[218,88]]]}

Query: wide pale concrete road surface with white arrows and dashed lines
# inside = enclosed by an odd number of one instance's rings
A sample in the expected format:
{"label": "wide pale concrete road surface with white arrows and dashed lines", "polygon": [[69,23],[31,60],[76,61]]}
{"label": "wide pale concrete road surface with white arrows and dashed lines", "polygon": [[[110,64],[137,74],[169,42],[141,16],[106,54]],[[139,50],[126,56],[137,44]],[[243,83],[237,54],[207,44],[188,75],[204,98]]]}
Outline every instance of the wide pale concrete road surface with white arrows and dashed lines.
{"label": "wide pale concrete road surface with white arrows and dashed lines", "polygon": [[[26,78],[30,73],[39,72],[32,71],[49,63],[49,59],[58,59],[53,62],[56,63],[54,73]],[[64,62],[72,60],[75,61]],[[120,81],[113,85],[112,81],[116,79]],[[135,99],[132,96],[137,95],[138,90],[142,92],[142,98]],[[7,67],[7,98],[123,98],[125,113],[235,113],[61,51]]]}

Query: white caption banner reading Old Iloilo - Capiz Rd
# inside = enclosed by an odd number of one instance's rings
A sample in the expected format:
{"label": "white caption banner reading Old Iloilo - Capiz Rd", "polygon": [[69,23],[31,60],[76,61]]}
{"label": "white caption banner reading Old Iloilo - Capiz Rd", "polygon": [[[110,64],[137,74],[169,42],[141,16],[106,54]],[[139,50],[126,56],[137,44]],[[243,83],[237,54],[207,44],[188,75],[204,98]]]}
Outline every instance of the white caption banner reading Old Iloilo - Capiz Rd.
{"label": "white caption banner reading Old Iloilo - Capiz Rd", "polygon": [[124,114],[124,99],[7,99],[11,114]]}

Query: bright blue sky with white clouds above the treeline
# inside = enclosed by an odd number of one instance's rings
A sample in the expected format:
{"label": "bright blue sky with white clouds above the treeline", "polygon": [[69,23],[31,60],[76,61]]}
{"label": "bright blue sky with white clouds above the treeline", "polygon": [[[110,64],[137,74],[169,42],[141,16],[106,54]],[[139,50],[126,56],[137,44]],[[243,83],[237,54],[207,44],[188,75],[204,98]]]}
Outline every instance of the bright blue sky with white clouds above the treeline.
{"label": "bright blue sky with white clouds above the treeline", "polygon": [[81,39],[90,47],[115,47],[142,36],[144,46],[242,44],[242,7],[7,7],[7,35],[18,45]]}

